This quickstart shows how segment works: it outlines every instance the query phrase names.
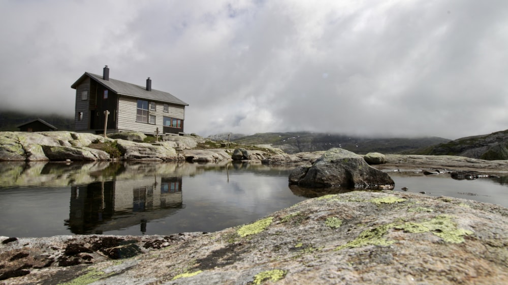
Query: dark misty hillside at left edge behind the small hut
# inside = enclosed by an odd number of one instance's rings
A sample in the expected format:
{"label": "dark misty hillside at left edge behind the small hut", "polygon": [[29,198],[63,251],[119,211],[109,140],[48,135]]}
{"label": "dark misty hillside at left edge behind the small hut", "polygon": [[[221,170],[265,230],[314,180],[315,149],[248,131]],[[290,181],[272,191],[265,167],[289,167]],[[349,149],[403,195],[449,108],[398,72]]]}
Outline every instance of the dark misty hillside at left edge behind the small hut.
{"label": "dark misty hillside at left edge behind the small hut", "polygon": [[29,114],[4,110],[0,110],[0,131],[19,131],[17,126],[38,118],[55,126],[59,131],[74,131],[74,118],[72,117],[69,118],[54,114]]}

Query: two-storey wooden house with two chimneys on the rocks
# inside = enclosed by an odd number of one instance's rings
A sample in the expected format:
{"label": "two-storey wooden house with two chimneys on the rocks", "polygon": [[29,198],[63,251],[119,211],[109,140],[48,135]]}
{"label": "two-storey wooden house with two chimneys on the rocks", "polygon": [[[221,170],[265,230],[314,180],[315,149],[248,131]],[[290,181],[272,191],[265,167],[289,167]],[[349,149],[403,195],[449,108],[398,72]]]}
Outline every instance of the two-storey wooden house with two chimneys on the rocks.
{"label": "two-storey wooden house with two chimneys on the rocks", "polygon": [[[150,78],[139,86],[85,72],[72,86],[76,89],[75,130],[103,133],[140,131],[145,134],[181,134],[187,103],[168,92],[152,89]],[[106,113],[108,115],[106,115]]]}

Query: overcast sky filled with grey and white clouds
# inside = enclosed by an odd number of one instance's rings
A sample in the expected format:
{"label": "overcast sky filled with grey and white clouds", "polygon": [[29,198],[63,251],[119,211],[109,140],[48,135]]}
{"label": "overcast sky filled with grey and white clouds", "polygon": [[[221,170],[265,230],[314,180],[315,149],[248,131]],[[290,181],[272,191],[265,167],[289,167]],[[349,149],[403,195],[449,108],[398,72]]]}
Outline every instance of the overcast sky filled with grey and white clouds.
{"label": "overcast sky filled with grey and white clouds", "polygon": [[508,129],[506,0],[0,0],[0,37],[0,109],[74,116],[108,65],[202,136]]}

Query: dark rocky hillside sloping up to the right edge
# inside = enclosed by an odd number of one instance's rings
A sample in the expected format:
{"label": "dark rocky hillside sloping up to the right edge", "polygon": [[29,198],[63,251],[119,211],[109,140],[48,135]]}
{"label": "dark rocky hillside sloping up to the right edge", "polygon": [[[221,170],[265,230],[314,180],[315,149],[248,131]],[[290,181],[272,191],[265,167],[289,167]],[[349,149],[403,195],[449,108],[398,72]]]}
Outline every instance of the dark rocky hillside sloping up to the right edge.
{"label": "dark rocky hillside sloping up to the right edge", "polygon": [[423,155],[456,155],[485,160],[508,159],[508,130],[458,138],[436,146],[406,152]]}

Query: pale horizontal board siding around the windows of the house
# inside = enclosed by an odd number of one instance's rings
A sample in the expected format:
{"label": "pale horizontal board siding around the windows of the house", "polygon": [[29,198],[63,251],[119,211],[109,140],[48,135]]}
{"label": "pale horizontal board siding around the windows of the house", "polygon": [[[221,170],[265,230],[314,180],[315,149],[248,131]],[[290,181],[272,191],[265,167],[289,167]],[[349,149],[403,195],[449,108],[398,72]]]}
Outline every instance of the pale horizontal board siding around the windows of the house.
{"label": "pale horizontal board siding around the windows of the house", "polygon": [[[169,112],[164,112],[164,103],[155,102],[156,111],[148,111],[150,115],[155,116],[155,124],[136,122],[138,99],[119,96],[118,97],[118,122],[119,131],[140,131],[146,134],[155,134],[156,129],[160,134],[163,133],[163,117],[184,119],[185,106],[169,104]],[[183,132],[183,128],[180,130]]]}

